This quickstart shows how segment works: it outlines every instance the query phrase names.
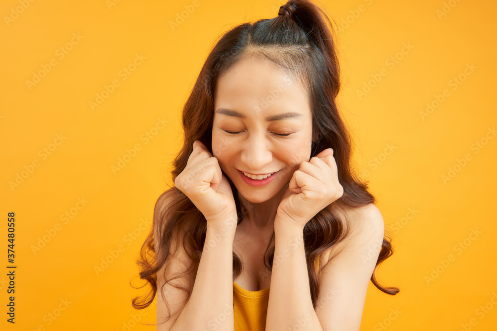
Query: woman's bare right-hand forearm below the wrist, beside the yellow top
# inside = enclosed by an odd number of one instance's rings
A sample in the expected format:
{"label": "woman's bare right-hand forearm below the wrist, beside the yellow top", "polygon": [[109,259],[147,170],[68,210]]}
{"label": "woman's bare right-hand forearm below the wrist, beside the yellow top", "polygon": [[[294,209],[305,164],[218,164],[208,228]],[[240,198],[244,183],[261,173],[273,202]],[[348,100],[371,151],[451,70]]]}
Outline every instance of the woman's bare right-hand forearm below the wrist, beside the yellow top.
{"label": "woman's bare right-hand forearm below the wrist, beside the yellow top", "polygon": [[322,331],[309,287],[303,228],[274,220],[275,248],[266,331]]}

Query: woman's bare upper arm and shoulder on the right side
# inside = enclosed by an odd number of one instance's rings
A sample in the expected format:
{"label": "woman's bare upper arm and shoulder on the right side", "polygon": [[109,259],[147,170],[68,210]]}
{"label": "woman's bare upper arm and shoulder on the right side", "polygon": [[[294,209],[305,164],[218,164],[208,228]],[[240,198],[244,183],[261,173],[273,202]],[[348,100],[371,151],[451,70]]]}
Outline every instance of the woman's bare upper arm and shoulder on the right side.
{"label": "woman's bare upper arm and shoulder on the right side", "polygon": [[360,329],[368,285],[383,242],[383,218],[374,204],[346,214],[350,234],[320,273],[315,311],[323,330]]}

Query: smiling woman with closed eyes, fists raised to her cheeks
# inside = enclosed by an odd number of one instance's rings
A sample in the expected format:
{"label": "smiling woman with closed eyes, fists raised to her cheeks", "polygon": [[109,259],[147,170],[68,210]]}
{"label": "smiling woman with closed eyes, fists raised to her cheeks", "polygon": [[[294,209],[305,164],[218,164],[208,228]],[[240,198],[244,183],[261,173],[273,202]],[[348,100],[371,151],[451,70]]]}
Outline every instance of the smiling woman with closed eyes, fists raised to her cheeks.
{"label": "smiling woman with closed eyes, fists raised to her cheeks", "polygon": [[326,22],[289,0],[209,54],[139,261],[152,293],[133,306],[161,289],[158,330],[359,330],[369,280],[399,292],[374,277],[393,251],[350,165]]}

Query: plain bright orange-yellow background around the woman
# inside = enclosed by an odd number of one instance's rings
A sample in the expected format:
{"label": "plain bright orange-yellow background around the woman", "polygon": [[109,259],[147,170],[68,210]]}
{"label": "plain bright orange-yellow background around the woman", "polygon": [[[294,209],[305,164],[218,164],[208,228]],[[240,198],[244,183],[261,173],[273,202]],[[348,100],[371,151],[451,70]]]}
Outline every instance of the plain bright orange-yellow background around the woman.
{"label": "plain bright orange-yellow background around the woman", "polygon": [[[172,185],[182,105],[220,34],[284,1],[193,3],[1,1],[0,213],[15,212],[17,265],[11,325],[3,223],[1,330],[155,330],[134,325],[155,305],[134,310],[145,291],[129,282]],[[357,167],[393,235],[379,279],[401,289],[370,283],[361,331],[495,330],[496,2],[321,4],[340,27]]]}

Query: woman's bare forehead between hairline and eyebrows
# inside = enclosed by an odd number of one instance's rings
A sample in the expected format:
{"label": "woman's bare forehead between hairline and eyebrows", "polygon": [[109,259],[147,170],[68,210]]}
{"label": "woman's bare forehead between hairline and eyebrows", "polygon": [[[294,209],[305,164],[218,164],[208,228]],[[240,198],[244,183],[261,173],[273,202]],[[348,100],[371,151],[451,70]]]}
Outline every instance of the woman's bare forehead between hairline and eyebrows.
{"label": "woman's bare forehead between hairline and eyebrows", "polygon": [[307,91],[296,75],[254,56],[240,60],[218,79],[214,107],[262,118],[280,112],[310,116]]}

